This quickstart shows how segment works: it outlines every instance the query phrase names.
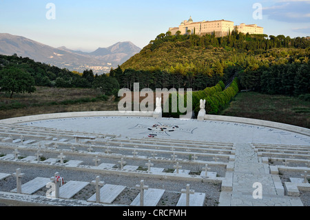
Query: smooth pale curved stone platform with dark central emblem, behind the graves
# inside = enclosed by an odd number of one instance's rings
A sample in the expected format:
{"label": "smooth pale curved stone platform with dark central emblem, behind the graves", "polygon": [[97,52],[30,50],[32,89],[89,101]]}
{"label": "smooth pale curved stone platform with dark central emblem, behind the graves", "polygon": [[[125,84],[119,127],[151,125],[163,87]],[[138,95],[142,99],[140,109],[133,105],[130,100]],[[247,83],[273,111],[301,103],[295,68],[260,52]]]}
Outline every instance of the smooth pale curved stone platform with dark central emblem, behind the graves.
{"label": "smooth pale curved stone platform with dark central emblem, behind the graves", "polygon": [[309,145],[310,137],[297,132],[229,121],[197,121],[152,117],[68,117],[19,123],[27,126],[79,132],[121,134],[123,137],[216,141],[225,143],[279,143]]}

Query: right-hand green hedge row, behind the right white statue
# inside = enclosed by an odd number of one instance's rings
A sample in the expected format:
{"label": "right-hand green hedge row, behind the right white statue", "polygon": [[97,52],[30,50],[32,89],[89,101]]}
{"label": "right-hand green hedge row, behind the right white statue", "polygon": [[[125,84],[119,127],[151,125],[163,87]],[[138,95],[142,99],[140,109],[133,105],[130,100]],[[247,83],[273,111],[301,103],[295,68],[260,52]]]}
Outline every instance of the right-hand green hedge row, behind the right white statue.
{"label": "right-hand green hedge row, behind the right white statue", "polygon": [[207,97],[205,102],[205,111],[207,114],[218,114],[221,110],[226,108],[231,99],[239,92],[238,81],[235,79],[229,88],[222,92],[216,92],[215,94]]}

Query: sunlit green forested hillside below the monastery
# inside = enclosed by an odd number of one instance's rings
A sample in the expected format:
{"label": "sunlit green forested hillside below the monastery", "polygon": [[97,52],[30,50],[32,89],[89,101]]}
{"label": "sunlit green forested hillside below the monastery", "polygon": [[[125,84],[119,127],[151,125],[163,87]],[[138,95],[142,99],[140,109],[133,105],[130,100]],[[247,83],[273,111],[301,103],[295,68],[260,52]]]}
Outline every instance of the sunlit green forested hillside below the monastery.
{"label": "sunlit green forested hillside below the monastery", "polygon": [[232,32],[217,38],[167,32],[114,72],[126,88],[140,82],[143,88],[203,90],[238,75],[241,89],[303,94],[310,88],[309,56],[310,41],[300,37]]}

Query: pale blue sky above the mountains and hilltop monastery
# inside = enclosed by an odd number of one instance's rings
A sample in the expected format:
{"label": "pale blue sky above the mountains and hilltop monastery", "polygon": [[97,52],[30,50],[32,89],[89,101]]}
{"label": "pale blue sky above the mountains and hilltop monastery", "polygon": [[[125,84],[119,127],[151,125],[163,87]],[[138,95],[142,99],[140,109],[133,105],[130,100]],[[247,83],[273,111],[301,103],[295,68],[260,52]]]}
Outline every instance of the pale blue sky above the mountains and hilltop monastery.
{"label": "pale blue sky above the mountains and hilltop monastery", "polygon": [[310,36],[310,0],[0,0],[0,33],[85,52],[120,41],[143,48],[190,16],[256,23],[268,35]]}

